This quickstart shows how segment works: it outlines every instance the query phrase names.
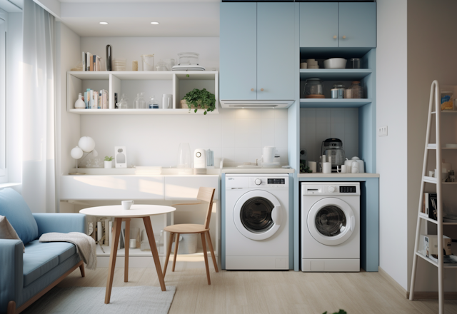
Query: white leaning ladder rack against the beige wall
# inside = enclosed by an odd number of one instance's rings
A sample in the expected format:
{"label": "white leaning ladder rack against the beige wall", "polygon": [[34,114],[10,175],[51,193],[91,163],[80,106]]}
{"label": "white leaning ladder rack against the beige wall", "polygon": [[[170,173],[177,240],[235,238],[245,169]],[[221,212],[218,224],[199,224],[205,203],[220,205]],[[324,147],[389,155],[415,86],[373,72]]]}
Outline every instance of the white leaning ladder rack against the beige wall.
{"label": "white leaning ladder rack against the beige wall", "polygon": [[[457,225],[457,223],[443,223],[443,192],[442,186],[443,182],[441,181],[441,101],[440,101],[440,86],[438,81],[433,81],[431,83],[430,90],[430,103],[428,105],[428,120],[427,120],[427,133],[426,133],[426,147],[423,154],[423,168],[422,168],[422,181],[421,181],[421,196],[419,196],[419,209],[418,209],[418,218],[417,218],[417,227],[416,227],[416,244],[414,245],[414,256],[413,256],[413,273],[411,274],[411,288],[409,293],[409,300],[414,299],[414,284],[416,283],[416,270],[417,270],[417,260],[418,258],[423,258],[432,265],[438,267],[438,304],[439,304],[439,314],[444,314],[444,287],[443,287],[443,269],[444,268],[456,268],[455,265],[444,265],[443,263],[443,225]],[[433,98],[435,100],[435,111],[433,111]],[[446,111],[444,112],[446,113]],[[431,119],[435,115],[435,125],[436,125],[436,147],[429,146],[430,144],[430,133],[431,133]],[[436,178],[426,176],[427,163],[428,163],[428,153],[436,150]],[[421,215],[421,208],[423,206],[423,193],[426,183],[436,184],[436,196],[437,196],[437,218],[435,221],[431,218]],[[446,183],[445,183],[446,184]],[[428,221],[431,223],[436,223],[438,226],[438,263],[430,258],[423,255],[419,252],[419,240],[421,238],[421,220]]]}

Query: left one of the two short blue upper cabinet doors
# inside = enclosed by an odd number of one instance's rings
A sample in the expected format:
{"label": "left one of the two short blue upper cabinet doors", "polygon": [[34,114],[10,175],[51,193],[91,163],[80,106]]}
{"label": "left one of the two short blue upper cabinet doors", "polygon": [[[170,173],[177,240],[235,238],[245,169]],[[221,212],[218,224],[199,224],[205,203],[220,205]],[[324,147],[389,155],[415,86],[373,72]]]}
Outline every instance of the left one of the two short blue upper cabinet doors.
{"label": "left one of the two short blue upper cabinet doors", "polygon": [[338,47],[338,2],[300,4],[300,46]]}

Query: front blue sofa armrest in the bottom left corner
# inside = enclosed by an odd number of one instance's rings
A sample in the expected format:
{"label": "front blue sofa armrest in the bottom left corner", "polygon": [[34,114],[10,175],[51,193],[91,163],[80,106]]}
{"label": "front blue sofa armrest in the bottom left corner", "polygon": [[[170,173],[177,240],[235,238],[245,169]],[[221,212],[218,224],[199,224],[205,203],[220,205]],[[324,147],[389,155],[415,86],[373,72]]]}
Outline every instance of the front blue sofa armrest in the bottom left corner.
{"label": "front blue sofa armrest in the bottom left corner", "polygon": [[24,285],[22,241],[0,239],[0,313],[9,301],[19,302]]}

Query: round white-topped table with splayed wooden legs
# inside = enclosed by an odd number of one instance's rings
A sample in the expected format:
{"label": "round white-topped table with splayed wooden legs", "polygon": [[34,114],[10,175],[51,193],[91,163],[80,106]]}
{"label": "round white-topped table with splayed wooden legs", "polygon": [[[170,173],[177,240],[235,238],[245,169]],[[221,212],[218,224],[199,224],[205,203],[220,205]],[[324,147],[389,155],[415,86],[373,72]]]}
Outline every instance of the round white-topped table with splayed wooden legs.
{"label": "round white-topped table with splayed wooden legs", "polygon": [[124,268],[124,281],[128,281],[129,278],[129,237],[130,237],[130,219],[131,218],[143,218],[144,227],[146,228],[146,234],[148,235],[149,245],[151,246],[152,257],[154,258],[154,264],[156,265],[157,276],[159,277],[159,283],[162,291],[165,291],[164,275],[159,260],[159,252],[157,251],[156,239],[154,238],[154,232],[152,231],[152,224],[150,216],[161,215],[164,213],[171,213],[176,211],[176,208],[171,206],[161,205],[132,205],[131,208],[126,211],[121,205],[115,206],[99,206],[84,208],[79,213],[84,213],[88,216],[99,216],[99,217],[114,217],[113,234],[114,239],[111,240],[111,254],[109,256],[109,273],[108,281],[106,282],[106,294],[105,303],[108,304],[111,298],[111,288],[113,286],[114,266],[116,265],[117,245],[119,244],[119,236],[121,235],[122,220],[126,221],[126,234],[125,234],[125,247],[126,247],[126,263]]}

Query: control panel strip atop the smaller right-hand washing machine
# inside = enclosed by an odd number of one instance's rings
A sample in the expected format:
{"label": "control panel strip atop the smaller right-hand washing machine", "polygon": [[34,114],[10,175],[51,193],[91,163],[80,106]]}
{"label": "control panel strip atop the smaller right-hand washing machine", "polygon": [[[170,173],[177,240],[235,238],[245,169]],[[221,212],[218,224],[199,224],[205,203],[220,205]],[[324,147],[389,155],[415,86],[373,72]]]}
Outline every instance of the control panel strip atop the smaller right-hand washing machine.
{"label": "control panel strip atop the smaller right-hand washing machine", "polygon": [[306,196],[359,196],[360,183],[358,182],[303,182],[301,195]]}

